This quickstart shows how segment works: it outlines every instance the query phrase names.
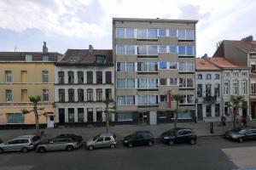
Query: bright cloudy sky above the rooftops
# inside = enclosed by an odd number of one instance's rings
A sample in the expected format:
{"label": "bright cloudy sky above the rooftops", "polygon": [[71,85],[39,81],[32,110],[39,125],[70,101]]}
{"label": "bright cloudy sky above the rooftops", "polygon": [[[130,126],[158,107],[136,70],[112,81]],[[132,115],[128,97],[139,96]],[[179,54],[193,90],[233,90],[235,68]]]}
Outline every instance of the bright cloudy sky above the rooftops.
{"label": "bright cloudy sky above the rooftops", "polygon": [[[112,48],[112,18],[199,20],[196,55],[216,42],[256,38],[254,0],[1,0],[0,51],[64,54],[67,48]],[[255,39],[254,38],[254,39]]]}

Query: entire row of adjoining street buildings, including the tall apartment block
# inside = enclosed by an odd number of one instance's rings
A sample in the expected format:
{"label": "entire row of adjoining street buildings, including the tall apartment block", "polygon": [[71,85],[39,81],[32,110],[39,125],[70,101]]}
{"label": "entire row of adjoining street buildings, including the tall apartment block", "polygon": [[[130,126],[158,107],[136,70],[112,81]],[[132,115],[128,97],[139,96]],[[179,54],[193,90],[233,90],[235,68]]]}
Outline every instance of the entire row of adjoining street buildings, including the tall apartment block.
{"label": "entire row of adjoining street buildings, including the tall apartment block", "polygon": [[34,115],[21,112],[32,109],[29,95],[42,96],[44,127],[100,125],[106,99],[114,101],[113,124],[173,122],[176,94],[179,122],[231,120],[232,95],[245,97],[240,116],[255,118],[256,44],[224,41],[213,58],[196,58],[196,23],[114,18],[113,50],[49,53],[44,42],[43,52],[0,52],[0,127],[34,126]]}

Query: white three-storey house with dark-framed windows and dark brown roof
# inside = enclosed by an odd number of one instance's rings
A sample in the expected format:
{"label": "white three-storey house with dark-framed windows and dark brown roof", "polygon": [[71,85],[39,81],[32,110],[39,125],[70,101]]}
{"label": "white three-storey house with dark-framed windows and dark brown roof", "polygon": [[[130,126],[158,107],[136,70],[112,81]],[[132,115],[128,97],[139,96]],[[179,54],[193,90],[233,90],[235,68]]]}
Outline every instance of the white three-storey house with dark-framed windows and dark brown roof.
{"label": "white three-storey house with dark-framed windows and dark brown roof", "polygon": [[[113,99],[113,74],[112,50],[91,45],[89,49],[67,49],[55,66],[55,122],[66,126],[105,122],[104,100]],[[110,121],[114,121],[114,113]]]}

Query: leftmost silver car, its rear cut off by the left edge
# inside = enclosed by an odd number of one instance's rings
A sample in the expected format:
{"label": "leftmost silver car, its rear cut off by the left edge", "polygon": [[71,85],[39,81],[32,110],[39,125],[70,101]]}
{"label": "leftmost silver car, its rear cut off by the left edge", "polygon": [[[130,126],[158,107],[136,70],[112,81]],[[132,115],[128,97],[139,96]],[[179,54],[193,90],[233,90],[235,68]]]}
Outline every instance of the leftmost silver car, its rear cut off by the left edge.
{"label": "leftmost silver car, its rear cut off by the left edge", "polygon": [[22,135],[0,144],[0,153],[3,151],[27,152],[28,150],[36,148],[40,142],[41,139],[38,135]]}

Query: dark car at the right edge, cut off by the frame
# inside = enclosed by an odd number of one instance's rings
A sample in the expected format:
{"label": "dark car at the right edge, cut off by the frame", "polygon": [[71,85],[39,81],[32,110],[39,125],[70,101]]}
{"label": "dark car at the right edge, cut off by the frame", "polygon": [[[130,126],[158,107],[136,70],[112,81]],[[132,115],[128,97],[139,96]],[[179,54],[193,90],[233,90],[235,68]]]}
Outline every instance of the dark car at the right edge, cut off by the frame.
{"label": "dark car at the right edge, cut off by the frame", "polygon": [[239,142],[243,142],[244,140],[256,140],[256,127],[236,127],[225,132],[224,137]]}

